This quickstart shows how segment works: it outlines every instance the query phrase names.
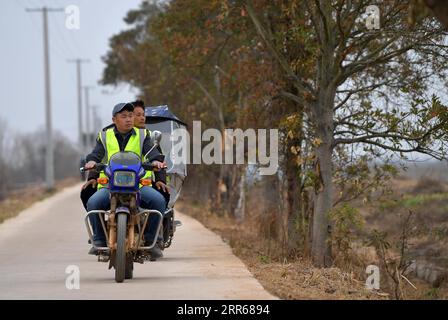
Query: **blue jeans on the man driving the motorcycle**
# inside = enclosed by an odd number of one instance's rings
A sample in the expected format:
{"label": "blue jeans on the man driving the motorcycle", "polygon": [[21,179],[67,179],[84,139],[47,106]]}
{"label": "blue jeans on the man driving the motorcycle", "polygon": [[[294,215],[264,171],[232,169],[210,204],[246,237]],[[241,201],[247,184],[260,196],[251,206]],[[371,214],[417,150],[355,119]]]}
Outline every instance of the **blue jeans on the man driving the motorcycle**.
{"label": "blue jeans on the man driving the motorcycle", "polygon": [[[163,196],[151,187],[144,186],[140,188],[140,207],[150,210],[158,210],[162,214],[165,214],[166,202]],[[87,211],[91,210],[109,210],[110,209],[110,192],[107,188],[102,188],[95,192],[87,202]],[[101,226],[101,220],[97,214],[89,216],[90,224],[93,229],[93,241],[95,243],[105,242],[106,236],[104,234],[103,227]],[[152,242],[157,236],[157,226],[159,224],[160,217],[155,214],[151,214],[148,218],[148,223],[144,231],[145,240]]]}

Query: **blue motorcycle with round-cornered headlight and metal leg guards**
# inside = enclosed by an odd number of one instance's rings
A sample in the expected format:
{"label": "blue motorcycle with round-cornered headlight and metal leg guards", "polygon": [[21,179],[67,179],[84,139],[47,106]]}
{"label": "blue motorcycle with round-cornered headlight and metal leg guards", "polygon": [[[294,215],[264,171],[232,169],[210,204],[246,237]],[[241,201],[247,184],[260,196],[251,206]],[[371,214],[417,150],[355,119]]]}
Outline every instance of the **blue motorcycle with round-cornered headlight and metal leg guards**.
{"label": "blue motorcycle with round-cornered headlight and metal leg guards", "polygon": [[[160,139],[161,133],[154,132],[153,148],[159,145]],[[112,155],[108,164],[99,163],[93,169],[97,172],[104,171],[106,175],[104,178],[99,178],[98,183],[109,184],[110,210],[87,212],[85,216],[87,233],[90,243],[93,244],[89,217],[98,215],[107,243],[107,247],[94,246],[98,251],[98,261],[109,262],[109,269],[112,267],[115,269],[115,281],[121,283],[125,279],[133,278],[134,262],[144,263],[145,260],[149,260],[149,250],[156,245],[157,235],[162,229],[164,222],[162,213],[142,209],[139,206],[140,184],[151,185],[151,180],[144,179],[144,176],[147,170],[153,171],[155,167],[149,162],[142,163],[139,155],[124,151]],[[80,171],[85,172],[86,169],[82,167]],[[144,246],[143,234],[150,215],[159,216],[159,224],[151,244]]]}

